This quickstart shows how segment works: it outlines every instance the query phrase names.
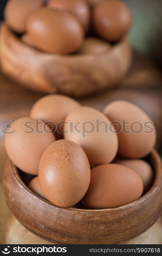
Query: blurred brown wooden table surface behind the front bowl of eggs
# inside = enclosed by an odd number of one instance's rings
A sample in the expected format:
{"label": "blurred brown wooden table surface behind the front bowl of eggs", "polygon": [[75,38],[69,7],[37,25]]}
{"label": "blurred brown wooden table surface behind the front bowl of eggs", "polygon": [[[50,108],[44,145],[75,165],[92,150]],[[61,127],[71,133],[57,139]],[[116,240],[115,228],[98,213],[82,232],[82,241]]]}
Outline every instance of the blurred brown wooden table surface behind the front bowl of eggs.
{"label": "blurred brown wooden table surface behind the front bowl of eggs", "polygon": [[[2,191],[2,176],[6,161],[4,149],[4,134],[2,129],[11,119],[28,116],[33,103],[42,94],[28,91],[15,82],[7,79],[0,72],[0,244],[4,243],[5,225],[9,210]],[[146,56],[134,53],[133,65],[127,76],[111,91],[105,91],[79,101],[82,104],[95,106],[102,110],[106,103],[113,99],[128,99],[141,106],[157,123],[158,147],[161,144],[162,133],[162,76],[161,71],[153,61]]]}

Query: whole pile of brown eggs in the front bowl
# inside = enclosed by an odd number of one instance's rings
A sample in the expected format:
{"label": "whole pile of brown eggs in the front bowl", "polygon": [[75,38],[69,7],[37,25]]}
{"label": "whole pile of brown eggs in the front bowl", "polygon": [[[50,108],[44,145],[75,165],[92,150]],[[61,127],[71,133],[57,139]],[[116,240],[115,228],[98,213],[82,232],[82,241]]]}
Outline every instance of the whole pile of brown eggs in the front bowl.
{"label": "whole pile of brown eggs in the front bowl", "polygon": [[63,95],[39,99],[5,135],[9,158],[33,175],[36,194],[87,209],[119,207],[146,193],[154,172],[142,158],[155,141],[154,124],[138,106],[117,100],[102,113]]}

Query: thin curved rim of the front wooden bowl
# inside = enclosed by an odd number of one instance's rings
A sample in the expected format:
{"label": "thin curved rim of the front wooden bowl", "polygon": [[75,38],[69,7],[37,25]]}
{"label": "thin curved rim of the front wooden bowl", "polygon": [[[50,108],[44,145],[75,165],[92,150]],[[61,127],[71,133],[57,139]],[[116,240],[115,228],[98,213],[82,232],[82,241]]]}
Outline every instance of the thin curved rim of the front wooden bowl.
{"label": "thin curved rim of the front wooden bowl", "polygon": [[[156,150],[153,150],[148,156],[153,157],[154,159],[156,159],[156,166],[155,168],[153,168],[154,170],[154,182],[151,186],[151,188],[138,200],[133,201],[129,204],[120,206],[120,207],[116,207],[116,208],[107,208],[107,209],[77,209],[77,208],[71,208],[71,207],[59,207],[56,206],[54,204],[52,204],[50,201],[47,201],[43,198],[41,198],[39,195],[37,195],[36,193],[34,193],[34,191],[32,191],[27,185],[25,185],[25,183],[23,182],[23,180],[21,179],[20,175],[18,174],[18,168],[13,164],[13,162],[10,160],[11,162],[11,168],[12,168],[12,173],[14,176],[14,179],[16,180],[16,182],[19,183],[19,185],[21,185],[21,187],[23,187],[26,191],[28,191],[29,194],[32,194],[32,196],[36,197],[37,199],[39,199],[40,201],[44,201],[46,204],[50,204],[54,209],[55,208],[60,208],[62,210],[68,210],[68,211],[77,211],[79,212],[93,212],[94,214],[98,214],[98,213],[109,213],[109,212],[114,212],[114,211],[120,211],[123,210],[125,208],[130,208],[133,206],[136,206],[140,203],[142,203],[143,201],[145,201],[147,198],[149,198],[151,196],[151,194],[157,189],[159,181],[162,179],[162,172],[161,172],[161,168],[158,168],[159,166],[161,166],[161,159],[160,156],[158,155],[158,153],[156,152]],[[22,171],[21,171],[22,172]]]}

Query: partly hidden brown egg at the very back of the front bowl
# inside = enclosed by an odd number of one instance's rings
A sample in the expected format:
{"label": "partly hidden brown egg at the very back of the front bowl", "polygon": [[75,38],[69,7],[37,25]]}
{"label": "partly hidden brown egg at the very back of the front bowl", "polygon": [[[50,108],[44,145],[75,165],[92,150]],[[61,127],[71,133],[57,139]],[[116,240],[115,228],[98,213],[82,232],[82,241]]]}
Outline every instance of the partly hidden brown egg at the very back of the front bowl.
{"label": "partly hidden brown egg at the very back of the front bowl", "polygon": [[58,139],[63,138],[63,122],[70,111],[78,108],[80,104],[64,95],[47,95],[39,99],[32,107],[30,116],[51,124]]}

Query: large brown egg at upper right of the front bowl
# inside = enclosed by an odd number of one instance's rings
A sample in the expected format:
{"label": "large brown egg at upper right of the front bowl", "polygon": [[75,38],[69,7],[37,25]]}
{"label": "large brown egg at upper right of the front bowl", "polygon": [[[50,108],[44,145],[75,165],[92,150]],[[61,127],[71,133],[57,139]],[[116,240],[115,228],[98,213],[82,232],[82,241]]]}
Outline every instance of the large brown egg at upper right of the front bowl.
{"label": "large brown egg at upper right of the front bowl", "polygon": [[148,115],[138,106],[124,100],[108,104],[103,113],[115,122],[118,133],[118,153],[126,158],[143,158],[156,142],[156,131]]}

